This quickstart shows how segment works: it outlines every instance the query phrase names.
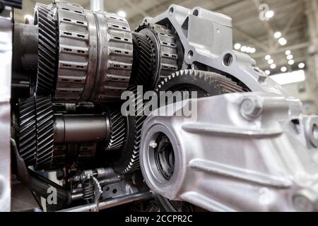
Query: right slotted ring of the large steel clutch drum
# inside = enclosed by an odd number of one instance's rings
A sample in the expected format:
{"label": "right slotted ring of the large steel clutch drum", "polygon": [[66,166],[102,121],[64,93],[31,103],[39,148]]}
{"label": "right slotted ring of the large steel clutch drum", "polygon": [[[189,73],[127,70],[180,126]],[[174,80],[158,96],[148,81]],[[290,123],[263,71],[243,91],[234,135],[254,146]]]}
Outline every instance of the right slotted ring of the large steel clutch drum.
{"label": "right slotted ring of the large steel clutch drum", "polygon": [[114,13],[95,12],[95,20],[99,28],[98,69],[90,100],[117,101],[131,76],[131,31],[126,19]]}

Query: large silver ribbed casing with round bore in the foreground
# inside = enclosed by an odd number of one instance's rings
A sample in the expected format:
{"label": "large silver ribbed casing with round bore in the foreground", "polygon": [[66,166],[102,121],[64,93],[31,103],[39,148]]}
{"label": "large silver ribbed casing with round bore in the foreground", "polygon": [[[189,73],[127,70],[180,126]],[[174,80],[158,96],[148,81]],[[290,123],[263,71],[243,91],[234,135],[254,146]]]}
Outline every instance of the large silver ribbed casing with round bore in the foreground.
{"label": "large silver ribbed casing with round bore in the foreground", "polygon": [[[247,100],[261,102],[259,116],[245,117]],[[175,113],[197,106],[191,117],[153,112],[141,137],[146,183],[170,200],[206,210],[317,210],[318,152],[307,147],[312,137],[302,121],[308,118],[290,115],[290,101],[295,100],[273,93],[229,93],[167,106]],[[149,145],[160,133],[169,138],[175,155],[170,179],[158,170]]]}

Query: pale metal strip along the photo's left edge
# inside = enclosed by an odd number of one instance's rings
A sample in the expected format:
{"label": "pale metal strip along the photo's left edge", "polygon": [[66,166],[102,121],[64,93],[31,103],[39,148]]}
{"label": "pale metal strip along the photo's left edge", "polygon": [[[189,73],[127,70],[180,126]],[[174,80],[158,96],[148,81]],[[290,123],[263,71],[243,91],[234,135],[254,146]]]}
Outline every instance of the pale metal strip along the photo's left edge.
{"label": "pale metal strip along the photo's left edge", "polygon": [[11,8],[0,13],[0,211],[11,208]]}

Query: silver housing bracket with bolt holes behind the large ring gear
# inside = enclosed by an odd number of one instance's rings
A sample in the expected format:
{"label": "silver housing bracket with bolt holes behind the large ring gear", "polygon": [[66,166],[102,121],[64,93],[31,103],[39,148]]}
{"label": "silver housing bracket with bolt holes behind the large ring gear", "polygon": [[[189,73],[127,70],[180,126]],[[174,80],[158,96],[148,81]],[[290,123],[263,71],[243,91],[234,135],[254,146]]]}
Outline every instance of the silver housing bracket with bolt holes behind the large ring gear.
{"label": "silver housing bracket with bolt holes behind the large ring gear", "polygon": [[[198,69],[201,65],[234,76],[252,91],[288,94],[256,66],[247,54],[232,50],[232,19],[201,7],[192,9],[172,4],[167,11],[147,23],[171,25],[184,49],[182,68]],[[197,65],[196,63],[200,63]],[[200,68],[199,68],[200,69]]]}

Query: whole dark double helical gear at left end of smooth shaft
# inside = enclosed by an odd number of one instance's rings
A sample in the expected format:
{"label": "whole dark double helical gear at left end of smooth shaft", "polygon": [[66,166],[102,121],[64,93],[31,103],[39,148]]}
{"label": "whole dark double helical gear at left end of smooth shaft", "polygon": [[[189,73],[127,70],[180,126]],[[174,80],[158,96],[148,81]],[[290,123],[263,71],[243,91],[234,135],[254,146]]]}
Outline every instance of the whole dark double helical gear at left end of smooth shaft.
{"label": "whole dark double helical gear at left end of smooth shaft", "polygon": [[51,97],[30,97],[19,103],[19,153],[26,165],[49,169],[53,158]]}

